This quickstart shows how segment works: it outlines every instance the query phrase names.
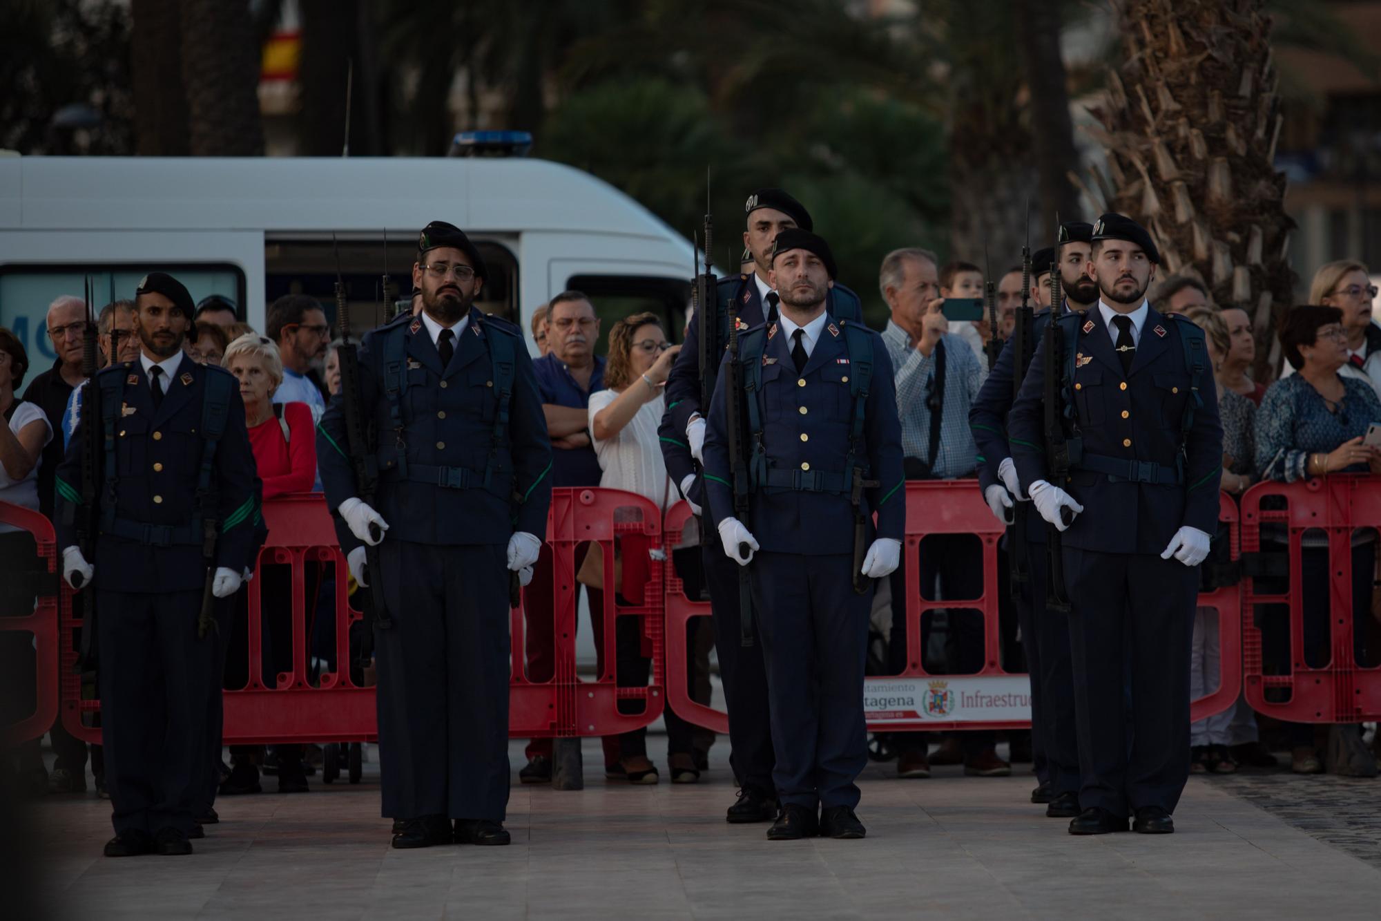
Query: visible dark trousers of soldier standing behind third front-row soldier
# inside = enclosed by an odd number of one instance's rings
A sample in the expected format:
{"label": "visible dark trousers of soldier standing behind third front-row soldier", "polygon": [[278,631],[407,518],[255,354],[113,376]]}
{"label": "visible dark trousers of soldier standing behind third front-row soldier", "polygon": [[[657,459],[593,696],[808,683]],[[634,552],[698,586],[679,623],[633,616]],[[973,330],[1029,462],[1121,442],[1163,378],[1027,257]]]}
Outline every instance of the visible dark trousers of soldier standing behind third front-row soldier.
{"label": "visible dark trousers of soldier standing behind third front-row soldier", "polygon": [[[715,535],[718,537],[718,535]],[[768,673],[762,664],[762,639],[744,649],[739,621],[739,564],[724,555],[718,539],[702,545],[704,579],[710,588],[714,649],[729,708],[729,768],[740,787],[768,797],[772,783],[772,722],[768,707]],[[761,626],[761,621],[758,622]]]}

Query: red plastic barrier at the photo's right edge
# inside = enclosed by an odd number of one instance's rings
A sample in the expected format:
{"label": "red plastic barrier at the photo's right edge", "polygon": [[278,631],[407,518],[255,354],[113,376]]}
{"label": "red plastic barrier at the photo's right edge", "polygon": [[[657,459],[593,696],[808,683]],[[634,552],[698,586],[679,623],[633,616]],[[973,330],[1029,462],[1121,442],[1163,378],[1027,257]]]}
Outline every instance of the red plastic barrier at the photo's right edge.
{"label": "red plastic barrier at the photo's right edge", "polygon": [[[1333,474],[1290,484],[1258,483],[1242,498],[1243,552],[1261,552],[1261,531],[1271,525],[1284,528],[1288,535],[1288,586],[1283,593],[1269,593],[1259,586],[1259,578],[1244,579],[1242,650],[1247,703],[1259,714],[1301,723],[1381,719],[1381,669],[1360,668],[1353,655],[1351,552],[1356,528],[1381,527],[1381,478]],[[1304,655],[1301,539],[1305,531],[1323,531],[1329,537],[1330,657],[1319,668],[1311,667]],[[1265,673],[1262,631],[1255,624],[1261,604],[1290,606],[1287,675]],[[1272,689],[1283,693],[1268,700]]]}

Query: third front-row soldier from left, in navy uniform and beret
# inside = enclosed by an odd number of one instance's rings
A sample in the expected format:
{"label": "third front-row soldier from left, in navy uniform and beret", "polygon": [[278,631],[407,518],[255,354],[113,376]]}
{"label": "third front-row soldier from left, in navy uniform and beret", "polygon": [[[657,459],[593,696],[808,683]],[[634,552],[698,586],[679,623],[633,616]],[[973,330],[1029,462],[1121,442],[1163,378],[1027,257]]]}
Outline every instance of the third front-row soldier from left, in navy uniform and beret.
{"label": "third front-row soldier from left, in navy uniform and beret", "polygon": [[[717,393],[725,398],[710,413],[706,491],[725,555],[739,566],[751,561],[782,803],[768,838],[862,838],[853,781],[867,763],[871,579],[896,568],[906,525],[892,366],[881,336],[826,310],[834,259],[823,239],[783,230],[771,266],[780,318],[743,333],[737,351],[746,382],[737,405],[750,445],[747,520],[735,517],[729,487],[732,354],[720,366]],[[718,640],[722,649],[736,635]]]}

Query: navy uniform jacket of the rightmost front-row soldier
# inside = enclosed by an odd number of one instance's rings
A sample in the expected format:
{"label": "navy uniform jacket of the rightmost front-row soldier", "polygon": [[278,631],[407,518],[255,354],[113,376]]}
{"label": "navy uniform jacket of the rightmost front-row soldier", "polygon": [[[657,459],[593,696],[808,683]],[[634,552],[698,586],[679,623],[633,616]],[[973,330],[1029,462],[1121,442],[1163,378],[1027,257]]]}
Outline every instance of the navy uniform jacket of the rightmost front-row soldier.
{"label": "navy uniform jacket of the rightmost front-row soldier", "polygon": [[[1181,343],[1181,324],[1150,308],[1124,375],[1113,339],[1099,310],[1066,314],[1059,325],[1077,328],[1074,418],[1084,454],[1155,462],[1174,467],[1184,445],[1181,485],[1113,480],[1105,473],[1073,469],[1069,481],[1054,484],[1084,506],[1065,531],[1069,546],[1105,553],[1160,553],[1182,525],[1214,534],[1218,525],[1218,480],[1222,473],[1222,426],[1213,368],[1199,378],[1203,405],[1182,433],[1185,405],[1192,398],[1190,372]],[[1048,480],[1044,454],[1044,355],[1041,337],[1012,405],[1007,431],[1022,485]],[[1069,427],[1066,426],[1066,433]]]}

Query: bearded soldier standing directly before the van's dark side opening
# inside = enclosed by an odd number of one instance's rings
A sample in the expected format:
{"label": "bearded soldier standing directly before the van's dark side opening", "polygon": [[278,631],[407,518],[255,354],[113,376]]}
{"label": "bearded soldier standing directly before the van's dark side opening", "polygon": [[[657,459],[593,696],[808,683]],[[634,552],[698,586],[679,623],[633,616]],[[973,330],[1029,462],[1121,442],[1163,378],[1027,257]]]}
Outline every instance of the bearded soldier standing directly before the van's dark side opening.
{"label": "bearded soldier standing directly before the van's dark side opening", "polygon": [[[359,390],[378,433],[378,509],[356,495],[338,396],[319,427],[351,573],[362,585],[383,579],[389,599],[376,649],[395,848],[508,844],[508,571],[537,560],[551,445],[521,331],[471,306],[485,278],[465,234],[432,221],[413,266],[423,311],[365,336]],[[384,530],[380,573],[363,571],[370,524]]]}

